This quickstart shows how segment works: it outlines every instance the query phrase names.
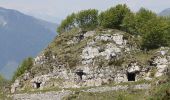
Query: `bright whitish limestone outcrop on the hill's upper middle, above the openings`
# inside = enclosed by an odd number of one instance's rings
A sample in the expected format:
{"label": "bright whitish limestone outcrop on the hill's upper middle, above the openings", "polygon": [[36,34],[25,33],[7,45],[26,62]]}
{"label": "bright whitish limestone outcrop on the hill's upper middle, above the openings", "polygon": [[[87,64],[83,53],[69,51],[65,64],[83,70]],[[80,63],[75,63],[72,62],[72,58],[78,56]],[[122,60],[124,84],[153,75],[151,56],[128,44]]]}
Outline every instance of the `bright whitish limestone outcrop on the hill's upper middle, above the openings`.
{"label": "bright whitish limestone outcrop on the hill's upper middle, above the openings", "polygon": [[[96,47],[99,41],[109,42],[104,47]],[[123,52],[130,51],[126,46],[126,40],[123,39],[122,34],[101,34],[97,35],[94,40],[89,42],[82,51],[82,64],[90,64],[94,62],[96,57],[105,57],[106,60],[117,58]]]}

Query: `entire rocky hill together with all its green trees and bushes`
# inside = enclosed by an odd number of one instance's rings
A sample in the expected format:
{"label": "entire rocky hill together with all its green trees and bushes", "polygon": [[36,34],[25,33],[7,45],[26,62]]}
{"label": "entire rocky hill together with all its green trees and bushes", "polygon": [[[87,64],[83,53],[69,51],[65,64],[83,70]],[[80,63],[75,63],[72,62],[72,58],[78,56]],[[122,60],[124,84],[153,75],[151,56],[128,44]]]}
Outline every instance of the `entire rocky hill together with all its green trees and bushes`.
{"label": "entire rocky hill together with all its green trees and bushes", "polygon": [[[14,74],[15,98],[170,99],[169,18],[117,5],[101,13],[72,13],[57,31],[54,41]],[[56,94],[49,96],[51,91]]]}

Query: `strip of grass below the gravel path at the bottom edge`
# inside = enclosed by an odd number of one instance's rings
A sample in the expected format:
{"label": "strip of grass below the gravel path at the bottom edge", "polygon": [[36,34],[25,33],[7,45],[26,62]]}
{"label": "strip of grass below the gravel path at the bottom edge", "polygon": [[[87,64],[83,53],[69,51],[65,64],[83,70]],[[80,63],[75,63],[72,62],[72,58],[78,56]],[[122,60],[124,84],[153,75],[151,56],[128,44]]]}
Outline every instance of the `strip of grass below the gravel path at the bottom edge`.
{"label": "strip of grass below the gravel path at the bottom edge", "polygon": [[63,100],[145,100],[146,91],[110,91],[103,93],[75,92]]}

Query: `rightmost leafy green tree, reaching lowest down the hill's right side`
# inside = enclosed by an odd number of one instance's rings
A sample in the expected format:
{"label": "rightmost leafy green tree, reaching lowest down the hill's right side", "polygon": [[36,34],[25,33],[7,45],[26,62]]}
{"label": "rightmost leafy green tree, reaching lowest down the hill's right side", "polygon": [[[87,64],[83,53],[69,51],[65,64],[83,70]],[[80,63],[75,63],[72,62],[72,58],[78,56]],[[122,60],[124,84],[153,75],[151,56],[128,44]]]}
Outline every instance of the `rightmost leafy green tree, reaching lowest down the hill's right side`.
{"label": "rightmost leafy green tree, reaching lowest down the hill's right side", "polygon": [[155,49],[161,46],[167,46],[167,34],[169,24],[163,18],[157,17],[151,19],[141,27],[143,32],[143,48]]}

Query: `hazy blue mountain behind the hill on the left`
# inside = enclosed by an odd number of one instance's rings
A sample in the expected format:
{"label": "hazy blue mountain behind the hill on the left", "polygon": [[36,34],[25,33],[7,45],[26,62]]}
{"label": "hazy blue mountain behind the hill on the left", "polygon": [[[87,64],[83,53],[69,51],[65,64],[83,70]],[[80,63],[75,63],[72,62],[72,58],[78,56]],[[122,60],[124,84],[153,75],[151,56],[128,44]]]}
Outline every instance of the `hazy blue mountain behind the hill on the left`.
{"label": "hazy blue mountain behind the hill on the left", "polygon": [[18,64],[36,56],[55,37],[57,24],[0,7],[0,74],[11,77]]}

